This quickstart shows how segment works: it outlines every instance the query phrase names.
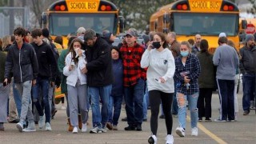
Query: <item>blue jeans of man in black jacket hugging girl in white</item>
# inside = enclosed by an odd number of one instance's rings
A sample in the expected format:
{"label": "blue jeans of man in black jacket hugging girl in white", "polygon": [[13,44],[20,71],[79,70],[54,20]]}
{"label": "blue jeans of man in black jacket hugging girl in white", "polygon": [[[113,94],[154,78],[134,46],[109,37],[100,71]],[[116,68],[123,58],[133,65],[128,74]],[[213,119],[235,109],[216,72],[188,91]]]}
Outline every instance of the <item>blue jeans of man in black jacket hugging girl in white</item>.
{"label": "blue jeans of man in black jacket hugging girl in white", "polygon": [[[111,94],[112,85],[90,87],[88,88],[91,101],[91,110],[93,115],[93,126],[99,128],[105,127],[108,119],[108,103]],[[99,106],[99,100],[102,101],[102,112]]]}

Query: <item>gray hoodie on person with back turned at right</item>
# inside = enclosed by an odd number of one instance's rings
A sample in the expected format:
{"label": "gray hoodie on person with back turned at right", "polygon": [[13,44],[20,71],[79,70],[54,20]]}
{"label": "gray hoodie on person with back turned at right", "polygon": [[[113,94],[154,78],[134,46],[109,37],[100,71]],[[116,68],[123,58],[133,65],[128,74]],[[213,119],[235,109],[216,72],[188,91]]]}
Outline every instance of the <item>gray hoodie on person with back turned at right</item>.
{"label": "gray hoodie on person with back turned at right", "polygon": [[238,54],[233,47],[223,44],[214,53],[214,65],[217,66],[216,78],[234,80],[239,66]]}

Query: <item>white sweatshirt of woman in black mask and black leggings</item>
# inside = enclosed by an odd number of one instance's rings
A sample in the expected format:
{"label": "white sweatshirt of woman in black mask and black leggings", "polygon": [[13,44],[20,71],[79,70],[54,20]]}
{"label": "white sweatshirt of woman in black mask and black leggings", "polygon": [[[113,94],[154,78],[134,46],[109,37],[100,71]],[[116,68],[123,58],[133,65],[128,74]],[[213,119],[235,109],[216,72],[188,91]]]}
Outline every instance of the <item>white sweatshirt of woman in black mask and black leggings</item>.
{"label": "white sweatshirt of woman in black mask and black leggings", "polygon": [[[161,90],[164,93],[174,93],[175,62],[171,51],[166,48],[159,52],[156,49],[145,50],[141,60],[146,71],[148,90]],[[159,83],[156,79],[164,78],[166,82]]]}

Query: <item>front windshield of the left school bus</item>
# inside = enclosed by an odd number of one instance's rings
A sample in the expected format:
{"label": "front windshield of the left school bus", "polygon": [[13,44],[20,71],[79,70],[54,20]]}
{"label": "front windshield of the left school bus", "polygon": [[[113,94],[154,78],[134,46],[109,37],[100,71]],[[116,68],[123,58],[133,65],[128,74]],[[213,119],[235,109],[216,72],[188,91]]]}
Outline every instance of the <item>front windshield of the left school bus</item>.
{"label": "front windshield of the left school bus", "polygon": [[100,34],[103,30],[117,33],[116,14],[50,14],[49,17],[51,35],[75,35],[81,26]]}

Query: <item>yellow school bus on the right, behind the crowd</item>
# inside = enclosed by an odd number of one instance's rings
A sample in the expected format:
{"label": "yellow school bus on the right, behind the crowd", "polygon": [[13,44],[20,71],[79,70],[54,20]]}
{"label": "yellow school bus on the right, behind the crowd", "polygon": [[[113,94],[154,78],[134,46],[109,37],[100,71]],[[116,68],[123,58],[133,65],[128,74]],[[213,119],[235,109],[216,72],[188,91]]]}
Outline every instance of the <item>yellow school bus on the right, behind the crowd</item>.
{"label": "yellow school bus on the right, behind the crowd", "polygon": [[151,15],[150,31],[174,31],[178,42],[201,34],[209,42],[210,53],[218,47],[218,34],[224,32],[238,49],[238,6],[227,0],[180,0]]}

